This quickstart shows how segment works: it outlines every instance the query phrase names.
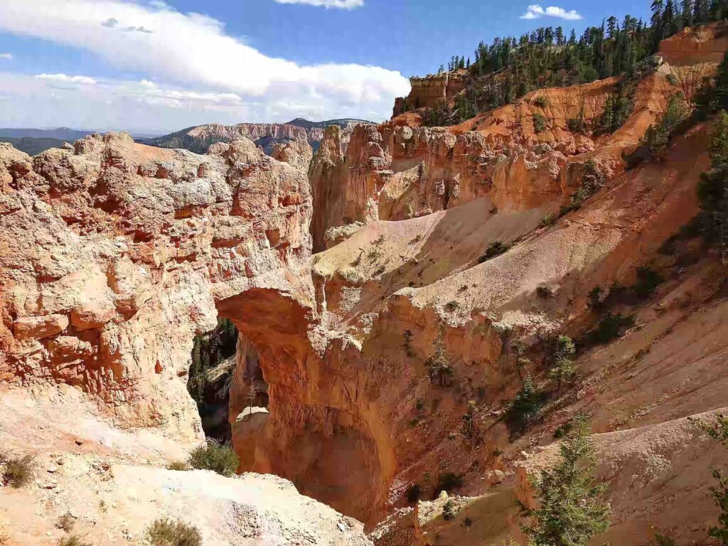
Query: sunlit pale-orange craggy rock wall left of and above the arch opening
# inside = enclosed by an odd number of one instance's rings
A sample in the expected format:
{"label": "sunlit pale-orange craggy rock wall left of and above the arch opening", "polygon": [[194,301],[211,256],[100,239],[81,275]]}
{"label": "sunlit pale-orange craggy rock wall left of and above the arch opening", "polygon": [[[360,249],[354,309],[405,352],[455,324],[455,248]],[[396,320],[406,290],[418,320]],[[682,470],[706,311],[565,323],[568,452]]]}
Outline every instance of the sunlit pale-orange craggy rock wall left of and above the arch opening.
{"label": "sunlit pale-orange craggy rock wall left of and above the arch opening", "polygon": [[250,141],[207,156],[93,135],[0,148],[0,377],[71,384],[125,426],[199,434],[184,389],[215,304],[311,296],[305,175]]}

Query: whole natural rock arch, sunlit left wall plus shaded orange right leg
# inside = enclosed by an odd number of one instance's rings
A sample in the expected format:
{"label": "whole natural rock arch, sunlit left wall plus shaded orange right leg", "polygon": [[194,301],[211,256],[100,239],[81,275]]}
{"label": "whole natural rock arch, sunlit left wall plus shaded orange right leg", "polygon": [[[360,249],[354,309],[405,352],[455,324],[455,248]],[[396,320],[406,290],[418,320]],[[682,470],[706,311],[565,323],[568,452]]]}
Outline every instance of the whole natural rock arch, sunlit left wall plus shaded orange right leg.
{"label": "whole natural rock arch, sunlit left wall plus shaded orange right leg", "polygon": [[70,385],[121,427],[194,440],[192,341],[229,318],[258,355],[270,411],[241,470],[289,477],[364,520],[381,510],[388,431],[352,397],[360,376],[340,373],[357,349],[312,329],[304,173],[251,141],[199,156],[124,134],[34,159],[4,146],[0,165],[2,381]]}

